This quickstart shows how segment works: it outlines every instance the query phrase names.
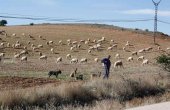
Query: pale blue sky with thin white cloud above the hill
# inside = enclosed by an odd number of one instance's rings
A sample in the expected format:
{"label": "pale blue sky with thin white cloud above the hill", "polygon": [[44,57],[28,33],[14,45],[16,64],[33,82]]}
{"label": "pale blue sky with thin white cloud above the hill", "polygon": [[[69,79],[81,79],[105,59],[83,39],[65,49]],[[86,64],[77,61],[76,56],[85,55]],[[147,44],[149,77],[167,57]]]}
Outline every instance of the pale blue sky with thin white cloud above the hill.
{"label": "pale blue sky with thin white cloud above the hill", "polygon": [[[154,1],[158,2],[159,0]],[[111,22],[111,20],[154,19],[155,7],[152,0],[0,0],[0,3],[0,16],[91,20],[83,23],[109,24],[125,28],[149,29],[151,31],[154,29],[153,20]],[[66,21],[0,19],[7,20],[8,25],[23,25],[32,22],[68,23]],[[170,23],[170,0],[161,1],[158,19]],[[170,35],[170,24],[158,22],[158,31]]]}

